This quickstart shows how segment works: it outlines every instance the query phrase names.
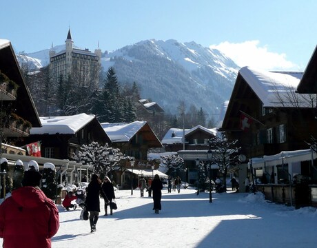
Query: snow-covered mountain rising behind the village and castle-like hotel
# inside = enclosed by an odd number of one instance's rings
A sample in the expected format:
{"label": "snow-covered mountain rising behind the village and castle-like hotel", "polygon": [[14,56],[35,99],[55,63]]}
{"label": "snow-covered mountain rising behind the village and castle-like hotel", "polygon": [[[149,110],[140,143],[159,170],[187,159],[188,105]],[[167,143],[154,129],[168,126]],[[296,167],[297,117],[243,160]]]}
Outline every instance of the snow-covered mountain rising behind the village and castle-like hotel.
{"label": "snow-covered mountain rising behind the village and castle-like hotel", "polygon": [[[53,48],[57,52],[64,45]],[[42,66],[49,63],[49,50],[27,54]],[[21,58],[19,58],[21,61]],[[208,114],[219,114],[229,99],[238,73],[238,65],[218,50],[194,41],[145,40],[114,52],[104,52],[103,70],[116,70],[121,83],[136,82],[141,97],[159,103],[165,112],[175,114],[180,101],[187,108],[195,105]],[[217,117],[215,116],[217,119]]]}

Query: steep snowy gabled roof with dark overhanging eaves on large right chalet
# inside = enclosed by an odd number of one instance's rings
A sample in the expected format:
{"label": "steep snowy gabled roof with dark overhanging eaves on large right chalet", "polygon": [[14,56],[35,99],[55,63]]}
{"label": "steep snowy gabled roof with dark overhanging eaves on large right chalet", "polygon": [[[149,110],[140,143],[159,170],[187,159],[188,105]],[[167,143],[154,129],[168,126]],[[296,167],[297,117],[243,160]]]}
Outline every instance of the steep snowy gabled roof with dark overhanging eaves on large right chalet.
{"label": "steep snowy gabled roof with dark overhanging eaves on large right chalet", "polygon": [[308,94],[296,93],[303,72],[268,72],[244,67],[238,72],[234,89],[223,119],[223,130],[240,129],[241,111],[251,114],[261,104],[267,108],[311,108]]}

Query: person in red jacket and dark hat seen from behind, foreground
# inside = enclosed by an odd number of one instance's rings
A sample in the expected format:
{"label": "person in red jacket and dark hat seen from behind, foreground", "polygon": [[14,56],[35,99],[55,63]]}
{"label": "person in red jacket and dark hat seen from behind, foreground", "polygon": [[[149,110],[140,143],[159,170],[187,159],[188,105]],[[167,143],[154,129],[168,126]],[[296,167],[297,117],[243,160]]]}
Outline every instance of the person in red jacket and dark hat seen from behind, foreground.
{"label": "person in red jacket and dark hat seen from behind, foreground", "polygon": [[59,230],[59,211],[39,188],[39,165],[24,172],[22,185],[0,205],[0,238],[4,248],[50,248]]}

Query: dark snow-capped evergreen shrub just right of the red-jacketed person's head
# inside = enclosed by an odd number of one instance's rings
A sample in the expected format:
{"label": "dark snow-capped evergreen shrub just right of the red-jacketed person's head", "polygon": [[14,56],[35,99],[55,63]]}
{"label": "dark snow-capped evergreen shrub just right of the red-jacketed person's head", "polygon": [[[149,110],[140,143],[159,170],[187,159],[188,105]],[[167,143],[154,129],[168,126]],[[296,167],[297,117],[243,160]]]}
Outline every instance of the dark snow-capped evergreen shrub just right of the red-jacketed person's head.
{"label": "dark snow-capped evergreen shrub just right of the red-jacketed person's head", "polygon": [[44,163],[41,189],[45,196],[55,200],[57,198],[57,180],[55,166],[52,163]]}

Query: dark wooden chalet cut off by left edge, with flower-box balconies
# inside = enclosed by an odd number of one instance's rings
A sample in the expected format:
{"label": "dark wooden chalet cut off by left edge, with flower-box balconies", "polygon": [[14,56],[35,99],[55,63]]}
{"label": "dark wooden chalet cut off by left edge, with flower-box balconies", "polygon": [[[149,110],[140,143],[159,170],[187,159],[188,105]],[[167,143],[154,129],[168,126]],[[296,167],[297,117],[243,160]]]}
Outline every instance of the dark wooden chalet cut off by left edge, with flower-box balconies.
{"label": "dark wooden chalet cut off by left edge, with flower-box balconies", "polygon": [[[26,87],[10,41],[0,39],[0,128],[1,142],[15,145],[41,127],[39,115]],[[0,142],[0,143],[1,143]]]}

